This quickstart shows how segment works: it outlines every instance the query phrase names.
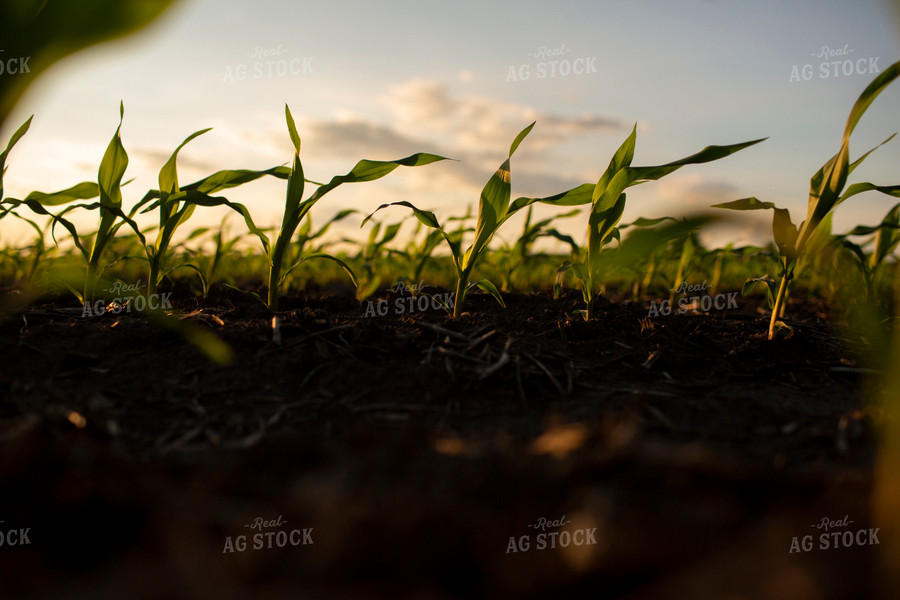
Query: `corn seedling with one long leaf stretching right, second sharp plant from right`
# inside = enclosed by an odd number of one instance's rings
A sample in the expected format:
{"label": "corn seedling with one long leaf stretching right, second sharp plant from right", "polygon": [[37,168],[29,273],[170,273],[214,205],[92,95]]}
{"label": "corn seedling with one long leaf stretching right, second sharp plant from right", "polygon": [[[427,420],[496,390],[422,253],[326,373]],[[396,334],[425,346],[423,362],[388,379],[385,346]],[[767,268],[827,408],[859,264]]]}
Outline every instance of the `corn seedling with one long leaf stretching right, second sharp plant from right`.
{"label": "corn seedling with one long leaf stretching right, second sharp plant from right", "polygon": [[588,217],[587,252],[584,259],[577,263],[564,263],[560,271],[572,269],[579,281],[586,306],[584,318],[594,317],[594,302],[602,292],[604,281],[602,272],[603,247],[618,237],[617,224],[625,210],[624,190],[632,185],[655,181],[669,173],[677,171],[685,165],[705,163],[724,158],[743,150],[763,139],[733,144],[730,146],[707,146],[700,152],[686,158],[654,167],[632,167],[634,147],[637,138],[637,125],[631,135],[616,151],[609,166],[593,187],[591,209]]}

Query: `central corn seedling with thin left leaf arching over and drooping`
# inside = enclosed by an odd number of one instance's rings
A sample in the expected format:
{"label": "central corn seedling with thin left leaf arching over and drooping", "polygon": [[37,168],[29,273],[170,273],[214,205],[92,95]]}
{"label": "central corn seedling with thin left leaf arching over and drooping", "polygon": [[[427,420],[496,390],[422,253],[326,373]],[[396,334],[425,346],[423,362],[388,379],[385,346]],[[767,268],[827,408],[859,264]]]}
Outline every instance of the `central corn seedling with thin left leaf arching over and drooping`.
{"label": "central corn seedling with thin left leaf arching over and drooping", "polygon": [[363,221],[363,225],[372,218],[379,210],[388,206],[405,206],[413,211],[416,218],[426,227],[438,230],[444,241],[450,248],[450,255],[453,260],[453,266],[456,269],[456,294],[453,304],[453,318],[458,319],[462,315],[463,304],[465,303],[466,293],[474,287],[491,294],[494,299],[503,307],[503,297],[497,287],[487,279],[479,279],[470,282],[472,271],[478,262],[478,258],[485,251],[488,244],[493,238],[494,233],[500,229],[500,226],[506,222],[517,211],[533,204],[535,202],[543,202],[546,204],[556,204],[559,206],[573,206],[586,204],[588,202],[589,189],[582,185],[573,188],[561,194],[550,196],[547,198],[517,198],[510,203],[510,160],[515,153],[519,144],[525,139],[534,128],[534,123],[519,132],[519,135],[513,140],[509,147],[509,155],[500,167],[494,172],[491,178],[485,184],[481,191],[481,198],[478,204],[478,219],[475,225],[475,239],[472,245],[463,252],[462,239],[451,235],[444,227],[441,226],[433,212],[420,210],[409,202],[392,202],[390,204],[382,204]]}

